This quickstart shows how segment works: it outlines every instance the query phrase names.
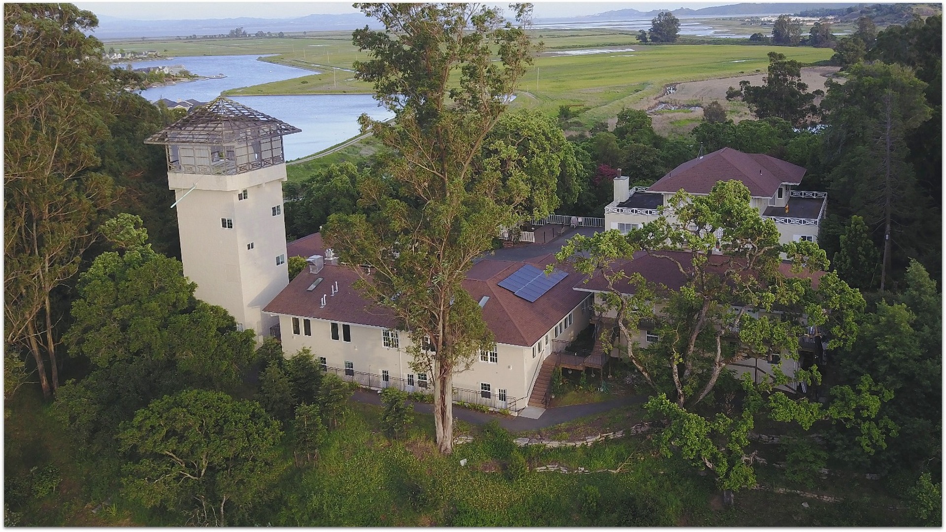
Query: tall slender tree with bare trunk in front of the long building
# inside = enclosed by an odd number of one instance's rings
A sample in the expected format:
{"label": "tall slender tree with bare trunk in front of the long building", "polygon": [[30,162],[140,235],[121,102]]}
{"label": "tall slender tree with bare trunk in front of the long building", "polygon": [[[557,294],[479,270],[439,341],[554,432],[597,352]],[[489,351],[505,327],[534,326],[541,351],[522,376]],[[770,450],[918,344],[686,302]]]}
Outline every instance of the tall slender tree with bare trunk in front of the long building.
{"label": "tall slender tree with bare trunk in front of the long building", "polygon": [[514,7],[517,26],[496,9],[469,4],[357,6],[386,29],[354,33],[369,54],[355,63],[356,75],[394,113],[391,122],[359,121],[396,155],[384,179],[360,187],[359,204],[377,212],[333,215],[324,238],[342,260],[371,266],[370,274],[356,270],[357,286],[408,330],[415,370],[432,377],[437,446],[449,453],[453,376],[492,341],[461,283],[500,225],[557,206],[560,168],[542,165],[554,175],[531,175],[536,164],[515,143],[488,140],[532,63],[523,27],[531,6]]}

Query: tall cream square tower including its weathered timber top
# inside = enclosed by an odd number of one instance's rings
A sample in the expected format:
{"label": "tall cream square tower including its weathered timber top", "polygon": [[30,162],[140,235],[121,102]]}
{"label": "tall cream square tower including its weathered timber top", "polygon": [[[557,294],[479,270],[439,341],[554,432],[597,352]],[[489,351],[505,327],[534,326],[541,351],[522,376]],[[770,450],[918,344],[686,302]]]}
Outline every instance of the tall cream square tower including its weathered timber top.
{"label": "tall cream square tower including its weathered timber top", "polygon": [[257,341],[275,334],[263,312],[289,284],[283,135],[299,128],[219,97],[149,136],[167,153],[184,275]]}

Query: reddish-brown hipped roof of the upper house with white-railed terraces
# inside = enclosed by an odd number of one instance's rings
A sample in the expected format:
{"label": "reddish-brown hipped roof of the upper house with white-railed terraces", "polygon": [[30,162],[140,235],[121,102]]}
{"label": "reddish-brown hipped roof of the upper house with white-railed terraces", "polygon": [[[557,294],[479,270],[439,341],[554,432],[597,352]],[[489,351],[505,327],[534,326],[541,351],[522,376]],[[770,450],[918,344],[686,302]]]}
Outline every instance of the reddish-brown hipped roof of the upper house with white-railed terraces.
{"label": "reddish-brown hipped roof of the upper house with white-railed terraces", "polygon": [[771,198],[783,183],[801,184],[805,171],[805,168],[762,153],[723,148],[670,170],[647,190],[676,192],[682,188],[691,194],[709,194],[717,182],[736,179],[748,187],[752,196]]}

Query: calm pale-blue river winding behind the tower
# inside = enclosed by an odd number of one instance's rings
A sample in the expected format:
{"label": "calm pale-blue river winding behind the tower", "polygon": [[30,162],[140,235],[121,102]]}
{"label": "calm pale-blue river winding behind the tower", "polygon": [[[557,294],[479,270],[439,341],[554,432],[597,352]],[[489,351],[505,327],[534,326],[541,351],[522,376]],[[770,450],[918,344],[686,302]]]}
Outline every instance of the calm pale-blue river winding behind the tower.
{"label": "calm pale-blue river winding behind the tower", "polygon": [[[149,101],[160,98],[210,101],[222,91],[248,87],[270,81],[290,80],[312,74],[272,62],[256,61],[258,55],[179,57],[159,61],[131,62],[133,68],[183,64],[198,76],[216,76],[219,80],[199,80],[154,87],[141,91]],[[284,139],[286,159],[298,159],[322,151],[359,133],[358,117],[367,113],[373,118],[392,116],[377,106],[370,95],[307,95],[232,97],[255,110],[274,116],[302,130]]]}

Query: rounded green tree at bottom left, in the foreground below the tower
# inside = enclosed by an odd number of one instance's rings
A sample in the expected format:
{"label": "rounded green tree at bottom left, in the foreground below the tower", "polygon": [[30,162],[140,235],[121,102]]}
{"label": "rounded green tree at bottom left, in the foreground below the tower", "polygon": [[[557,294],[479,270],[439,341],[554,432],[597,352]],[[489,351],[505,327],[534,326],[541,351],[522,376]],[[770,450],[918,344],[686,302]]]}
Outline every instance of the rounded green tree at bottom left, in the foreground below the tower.
{"label": "rounded green tree at bottom left, in the foreground below the tower", "polygon": [[254,401],[203,390],[156,399],[118,434],[134,458],[125,491],[182,524],[241,524],[246,510],[272,498],[282,435]]}

